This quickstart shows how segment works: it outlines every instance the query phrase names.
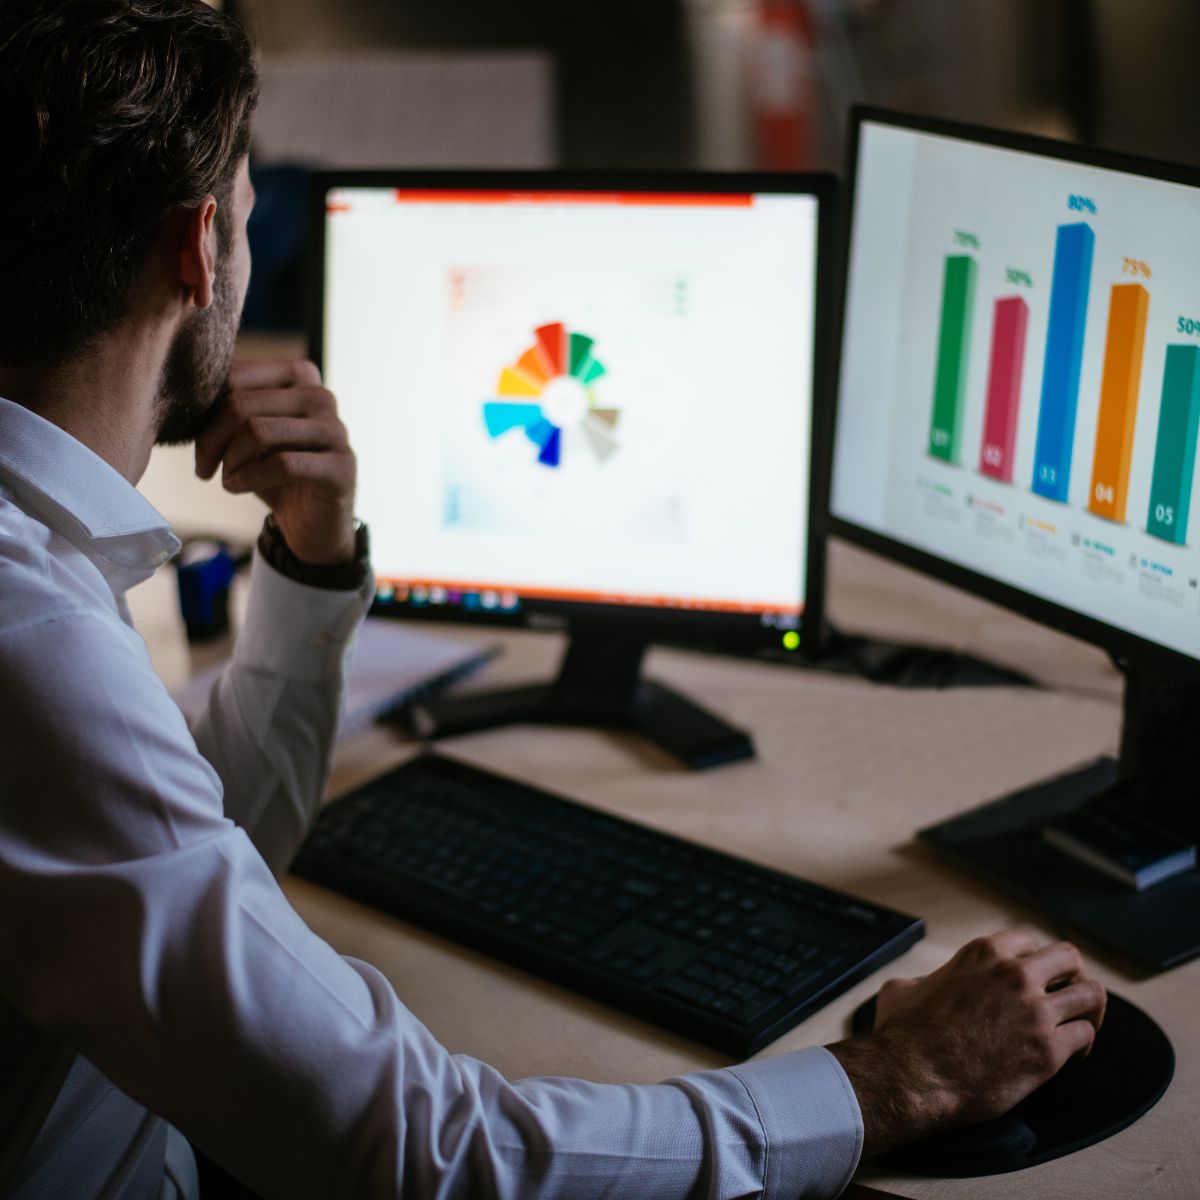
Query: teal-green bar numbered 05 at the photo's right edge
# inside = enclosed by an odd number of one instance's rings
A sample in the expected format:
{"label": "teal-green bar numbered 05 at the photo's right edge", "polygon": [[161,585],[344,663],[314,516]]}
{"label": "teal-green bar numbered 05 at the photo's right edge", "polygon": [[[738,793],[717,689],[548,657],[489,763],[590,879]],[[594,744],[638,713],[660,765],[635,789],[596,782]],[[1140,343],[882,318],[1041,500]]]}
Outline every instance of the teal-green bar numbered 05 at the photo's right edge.
{"label": "teal-green bar numbered 05 at the photo's right edge", "polygon": [[1198,430],[1200,346],[1168,346],[1146,532],[1177,546],[1184,545],[1188,538]]}

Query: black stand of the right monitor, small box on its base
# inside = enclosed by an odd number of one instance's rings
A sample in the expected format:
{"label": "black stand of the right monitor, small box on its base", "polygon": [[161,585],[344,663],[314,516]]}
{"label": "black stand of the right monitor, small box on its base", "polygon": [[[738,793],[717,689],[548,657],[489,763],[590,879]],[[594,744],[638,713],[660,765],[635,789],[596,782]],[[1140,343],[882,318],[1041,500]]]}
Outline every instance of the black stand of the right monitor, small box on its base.
{"label": "black stand of the right monitor, small box on its base", "polygon": [[1103,802],[1132,806],[1174,833],[1200,839],[1200,688],[1144,666],[1123,665],[1123,670],[1120,760],[1097,760],[922,829],[917,836],[1051,920],[1163,971],[1200,955],[1200,870],[1134,892],[1042,836],[1048,821]]}

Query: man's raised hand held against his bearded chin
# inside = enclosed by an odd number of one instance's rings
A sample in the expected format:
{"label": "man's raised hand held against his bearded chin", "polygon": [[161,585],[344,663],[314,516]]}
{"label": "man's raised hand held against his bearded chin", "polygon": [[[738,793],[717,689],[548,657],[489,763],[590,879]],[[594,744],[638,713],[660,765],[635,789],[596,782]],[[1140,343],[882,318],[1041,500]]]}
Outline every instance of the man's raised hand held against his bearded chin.
{"label": "man's raised hand held against his bearded chin", "polygon": [[288,548],[314,566],[354,558],[354,451],[312,362],[236,362],[229,391],[196,442],[196,473],[221,467],[228,492],[252,492]]}

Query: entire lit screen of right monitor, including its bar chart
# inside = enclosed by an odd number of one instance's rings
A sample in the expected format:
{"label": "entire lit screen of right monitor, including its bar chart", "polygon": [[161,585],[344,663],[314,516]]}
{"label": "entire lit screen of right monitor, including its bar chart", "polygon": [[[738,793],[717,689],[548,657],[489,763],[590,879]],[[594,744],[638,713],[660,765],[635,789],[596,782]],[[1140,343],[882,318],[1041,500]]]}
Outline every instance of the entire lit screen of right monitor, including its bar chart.
{"label": "entire lit screen of right monitor, including its bar chart", "polygon": [[830,510],[1200,661],[1200,175],[864,120]]}

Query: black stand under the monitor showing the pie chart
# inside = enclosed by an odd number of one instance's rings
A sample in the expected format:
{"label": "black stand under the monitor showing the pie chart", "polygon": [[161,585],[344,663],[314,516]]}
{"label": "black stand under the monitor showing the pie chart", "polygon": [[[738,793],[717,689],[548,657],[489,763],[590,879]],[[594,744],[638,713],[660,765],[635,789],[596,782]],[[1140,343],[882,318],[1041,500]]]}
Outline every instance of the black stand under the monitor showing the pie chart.
{"label": "black stand under the monitor showing the pie chart", "polygon": [[552,683],[445,696],[414,706],[426,738],[498,725],[600,725],[641,733],[694,770],[754,757],[750,734],[662,684],[642,678],[648,642],[612,622],[572,622]]}

